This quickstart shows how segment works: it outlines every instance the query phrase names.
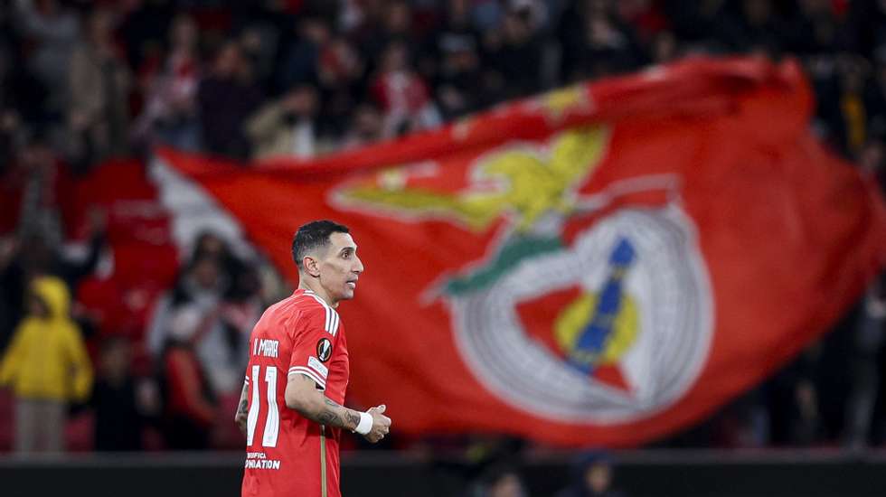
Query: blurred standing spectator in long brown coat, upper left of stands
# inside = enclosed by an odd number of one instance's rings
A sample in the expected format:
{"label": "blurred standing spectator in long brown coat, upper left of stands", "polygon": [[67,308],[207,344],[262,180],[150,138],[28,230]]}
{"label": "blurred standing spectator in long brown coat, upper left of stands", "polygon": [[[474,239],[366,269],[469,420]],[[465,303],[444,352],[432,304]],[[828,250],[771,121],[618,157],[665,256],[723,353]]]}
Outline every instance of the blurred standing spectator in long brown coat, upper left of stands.
{"label": "blurred standing spectator in long brown coat, upper left of stands", "polygon": [[90,14],[87,38],[71,55],[68,124],[71,162],[80,171],[128,149],[130,74],[112,38],[112,14]]}

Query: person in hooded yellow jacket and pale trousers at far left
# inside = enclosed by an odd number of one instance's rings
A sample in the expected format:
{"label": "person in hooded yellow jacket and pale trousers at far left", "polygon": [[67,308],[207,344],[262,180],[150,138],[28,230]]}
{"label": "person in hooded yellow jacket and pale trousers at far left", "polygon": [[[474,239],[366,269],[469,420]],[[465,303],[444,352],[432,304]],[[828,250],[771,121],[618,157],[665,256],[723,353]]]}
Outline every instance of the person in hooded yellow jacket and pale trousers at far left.
{"label": "person in hooded yellow jacket and pale trousers at far left", "polygon": [[0,386],[15,397],[15,450],[61,452],[68,403],[89,397],[92,366],[61,279],[34,278],[27,302],[0,362]]}

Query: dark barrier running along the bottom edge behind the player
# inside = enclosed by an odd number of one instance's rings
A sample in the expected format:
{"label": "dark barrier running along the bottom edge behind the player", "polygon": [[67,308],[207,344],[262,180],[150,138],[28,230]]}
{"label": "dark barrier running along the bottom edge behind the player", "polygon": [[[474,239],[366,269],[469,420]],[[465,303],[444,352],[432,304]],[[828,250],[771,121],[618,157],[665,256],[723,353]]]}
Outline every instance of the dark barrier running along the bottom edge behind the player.
{"label": "dark barrier running along the bottom edge behind the player", "polygon": [[[533,497],[570,481],[573,453],[532,453],[518,468]],[[886,496],[886,451],[652,450],[617,452],[616,483],[630,497]],[[0,456],[10,497],[209,497],[240,495],[239,453]],[[465,462],[369,451],[342,456],[347,497],[464,495]],[[309,496],[308,496],[309,497]]]}

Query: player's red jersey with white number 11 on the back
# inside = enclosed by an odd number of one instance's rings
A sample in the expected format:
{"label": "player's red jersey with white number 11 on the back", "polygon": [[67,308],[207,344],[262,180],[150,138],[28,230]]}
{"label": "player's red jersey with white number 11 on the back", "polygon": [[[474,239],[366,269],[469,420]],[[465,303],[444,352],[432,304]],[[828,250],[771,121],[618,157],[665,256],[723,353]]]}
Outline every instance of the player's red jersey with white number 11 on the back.
{"label": "player's red jersey with white number 11 on the back", "polygon": [[298,289],[271,305],[250,336],[244,497],[340,497],[339,428],[286,407],[287,377],[303,374],[344,403],[348,351],[335,309]]}

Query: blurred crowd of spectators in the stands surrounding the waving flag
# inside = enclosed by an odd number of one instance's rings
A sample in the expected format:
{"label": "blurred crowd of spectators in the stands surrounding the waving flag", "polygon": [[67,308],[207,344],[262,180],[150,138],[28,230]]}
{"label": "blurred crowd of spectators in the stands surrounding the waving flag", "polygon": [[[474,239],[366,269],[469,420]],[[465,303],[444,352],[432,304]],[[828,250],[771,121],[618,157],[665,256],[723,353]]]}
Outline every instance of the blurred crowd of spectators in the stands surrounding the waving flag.
{"label": "blurred crowd of spectators in the stands surrounding the waving flag", "polygon": [[[14,447],[61,450],[65,434],[42,427],[83,413],[94,420],[85,448],[241,445],[230,418],[244,347],[278,284],[206,232],[143,326],[102,331],[77,295],[100,266],[103,213],[71,227],[61,206],[66,185],[108,159],[159,145],[244,165],[310,158],[577,80],[730,53],[797,57],[817,96],[815,132],[883,182],[883,1],[0,4],[0,382],[27,420]],[[884,287],[767,384],[660,445],[886,443]],[[57,340],[43,338],[48,328]],[[483,494],[520,495],[494,492],[519,487],[519,475],[490,471],[478,476]],[[598,494],[608,493],[563,493]]]}

